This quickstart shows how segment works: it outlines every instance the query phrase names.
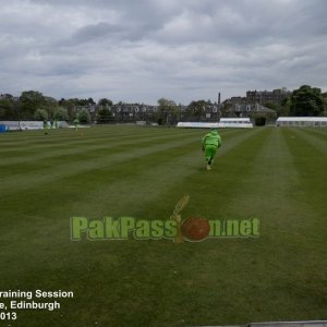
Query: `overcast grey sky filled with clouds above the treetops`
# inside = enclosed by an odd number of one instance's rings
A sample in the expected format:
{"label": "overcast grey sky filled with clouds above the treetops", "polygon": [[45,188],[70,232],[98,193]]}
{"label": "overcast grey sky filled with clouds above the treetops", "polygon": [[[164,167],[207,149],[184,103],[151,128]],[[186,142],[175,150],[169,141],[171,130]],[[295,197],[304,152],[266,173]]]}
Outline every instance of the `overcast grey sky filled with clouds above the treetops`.
{"label": "overcast grey sky filled with clouds above the treetops", "polygon": [[326,0],[0,0],[0,94],[156,105],[327,90]]}

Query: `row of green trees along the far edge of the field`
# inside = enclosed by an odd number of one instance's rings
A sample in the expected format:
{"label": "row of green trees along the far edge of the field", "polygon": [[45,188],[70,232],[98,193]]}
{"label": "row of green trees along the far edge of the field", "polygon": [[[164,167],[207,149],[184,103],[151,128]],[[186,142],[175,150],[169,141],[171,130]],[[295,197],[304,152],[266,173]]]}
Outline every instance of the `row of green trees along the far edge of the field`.
{"label": "row of green trees along the far edge of the field", "polygon": [[[120,102],[122,106],[123,104]],[[112,101],[107,98],[100,99],[97,104],[93,98],[88,99],[60,99],[44,96],[36,90],[23,92],[20,98],[11,95],[2,95],[0,99],[0,120],[63,120],[90,122],[92,119],[98,122],[108,122],[112,119]],[[192,101],[187,108],[186,116],[198,119],[204,114],[204,108],[213,106],[210,100]],[[277,116],[327,116],[327,93],[322,93],[320,88],[303,85],[294,89],[281,105],[275,102],[264,104],[265,107],[277,111]],[[76,110],[76,108],[86,108]],[[89,108],[98,108],[97,116],[92,117]],[[88,108],[88,109],[87,109]],[[181,118],[181,105],[173,100],[160,98],[157,111],[147,119],[159,123],[169,123]],[[226,117],[228,106],[220,106],[220,114]],[[76,117],[77,116],[77,117]],[[118,118],[119,119],[119,118]]]}

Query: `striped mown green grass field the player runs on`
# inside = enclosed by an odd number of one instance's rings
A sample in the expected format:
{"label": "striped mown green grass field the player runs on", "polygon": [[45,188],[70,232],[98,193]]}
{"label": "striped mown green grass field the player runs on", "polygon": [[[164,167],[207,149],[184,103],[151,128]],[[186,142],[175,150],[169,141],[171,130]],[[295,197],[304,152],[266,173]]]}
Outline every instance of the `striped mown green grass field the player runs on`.
{"label": "striped mown green grass field the player runs on", "polygon": [[[0,135],[0,291],[74,292],[0,326],[327,318],[326,130],[221,130],[211,171],[204,130],[81,131]],[[185,194],[183,218],[257,217],[259,237],[70,240],[73,216],[169,219]]]}

